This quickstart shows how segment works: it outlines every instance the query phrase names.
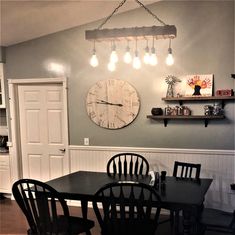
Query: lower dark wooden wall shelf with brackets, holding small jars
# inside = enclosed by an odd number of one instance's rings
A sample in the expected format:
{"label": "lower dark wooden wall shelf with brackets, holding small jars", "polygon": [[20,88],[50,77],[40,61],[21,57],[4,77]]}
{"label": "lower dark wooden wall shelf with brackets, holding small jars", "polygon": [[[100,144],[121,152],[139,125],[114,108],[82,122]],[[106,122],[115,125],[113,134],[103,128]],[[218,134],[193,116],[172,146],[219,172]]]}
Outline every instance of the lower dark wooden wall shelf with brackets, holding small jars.
{"label": "lower dark wooden wall shelf with brackets, holding small jars", "polygon": [[164,121],[164,126],[167,126],[167,122],[170,119],[180,119],[180,120],[204,120],[205,127],[207,127],[209,120],[214,120],[214,119],[224,119],[224,115],[218,115],[218,116],[204,116],[204,115],[190,115],[190,116],[174,116],[174,115],[159,115],[159,116],[154,116],[154,115],[147,115],[147,118],[153,119],[153,120],[163,120]]}

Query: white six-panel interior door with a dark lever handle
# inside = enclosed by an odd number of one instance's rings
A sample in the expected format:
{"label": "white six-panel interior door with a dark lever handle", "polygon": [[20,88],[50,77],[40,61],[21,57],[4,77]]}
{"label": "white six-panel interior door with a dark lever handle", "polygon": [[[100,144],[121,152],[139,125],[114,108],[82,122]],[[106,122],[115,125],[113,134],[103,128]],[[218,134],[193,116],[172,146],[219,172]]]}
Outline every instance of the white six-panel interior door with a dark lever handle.
{"label": "white six-panel interior door with a dark lever handle", "polygon": [[69,172],[62,84],[19,85],[24,178],[42,181]]}

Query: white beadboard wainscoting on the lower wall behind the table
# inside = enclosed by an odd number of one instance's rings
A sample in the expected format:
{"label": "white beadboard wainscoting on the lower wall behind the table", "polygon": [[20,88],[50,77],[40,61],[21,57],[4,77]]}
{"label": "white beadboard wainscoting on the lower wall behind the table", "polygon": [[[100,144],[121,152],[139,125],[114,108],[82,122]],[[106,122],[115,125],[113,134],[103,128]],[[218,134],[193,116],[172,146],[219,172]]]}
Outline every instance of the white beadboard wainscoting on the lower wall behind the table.
{"label": "white beadboard wainscoting on the lower wall behind the table", "polygon": [[[205,206],[231,211],[235,194],[230,183],[235,182],[235,151],[158,149],[132,147],[69,146],[71,172],[78,170],[106,172],[108,159],[116,153],[135,152],[143,155],[155,171],[166,170],[172,175],[174,161],[200,163],[201,177],[213,178],[205,198]],[[187,197],[187,195],[185,195]]]}

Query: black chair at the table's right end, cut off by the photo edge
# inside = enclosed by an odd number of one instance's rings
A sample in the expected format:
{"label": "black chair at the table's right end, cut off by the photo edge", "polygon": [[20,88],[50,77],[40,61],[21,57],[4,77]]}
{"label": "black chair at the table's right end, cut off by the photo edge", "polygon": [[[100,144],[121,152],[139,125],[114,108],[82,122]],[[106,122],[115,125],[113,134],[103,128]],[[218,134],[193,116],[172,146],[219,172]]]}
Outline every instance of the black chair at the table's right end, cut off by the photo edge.
{"label": "black chair at the table's right end, cut off by the photo edge", "polygon": [[203,234],[205,231],[214,231],[220,234],[235,235],[235,210],[233,213],[225,211],[204,208],[200,217],[200,224],[203,226]]}

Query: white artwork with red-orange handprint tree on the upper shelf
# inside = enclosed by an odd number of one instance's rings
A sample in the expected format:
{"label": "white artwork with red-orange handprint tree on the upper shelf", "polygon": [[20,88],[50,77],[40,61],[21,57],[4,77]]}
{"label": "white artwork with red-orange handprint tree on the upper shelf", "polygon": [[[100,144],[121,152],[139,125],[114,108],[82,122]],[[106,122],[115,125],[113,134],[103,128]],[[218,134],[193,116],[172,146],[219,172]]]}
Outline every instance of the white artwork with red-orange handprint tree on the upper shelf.
{"label": "white artwork with red-orange handprint tree on the upper shelf", "polygon": [[185,96],[212,96],[213,74],[187,75]]}

